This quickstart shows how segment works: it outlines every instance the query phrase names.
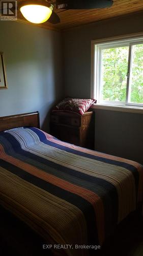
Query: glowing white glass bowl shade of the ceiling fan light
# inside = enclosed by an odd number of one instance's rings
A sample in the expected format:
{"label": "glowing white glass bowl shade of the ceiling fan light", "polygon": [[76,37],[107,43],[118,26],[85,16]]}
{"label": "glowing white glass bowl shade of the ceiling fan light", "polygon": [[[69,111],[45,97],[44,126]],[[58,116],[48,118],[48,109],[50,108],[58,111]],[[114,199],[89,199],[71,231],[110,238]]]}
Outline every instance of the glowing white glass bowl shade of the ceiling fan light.
{"label": "glowing white glass bowl shade of the ceiling fan light", "polygon": [[52,13],[52,6],[25,5],[20,8],[25,19],[32,23],[44,23]]}

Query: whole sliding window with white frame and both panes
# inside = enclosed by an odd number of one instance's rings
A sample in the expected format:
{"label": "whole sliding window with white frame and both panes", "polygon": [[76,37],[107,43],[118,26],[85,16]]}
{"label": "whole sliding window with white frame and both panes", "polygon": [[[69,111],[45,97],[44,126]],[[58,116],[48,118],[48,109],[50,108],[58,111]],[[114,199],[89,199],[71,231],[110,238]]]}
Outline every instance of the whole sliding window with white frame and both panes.
{"label": "whole sliding window with white frame and both panes", "polygon": [[99,104],[143,106],[143,38],[94,47],[94,95]]}

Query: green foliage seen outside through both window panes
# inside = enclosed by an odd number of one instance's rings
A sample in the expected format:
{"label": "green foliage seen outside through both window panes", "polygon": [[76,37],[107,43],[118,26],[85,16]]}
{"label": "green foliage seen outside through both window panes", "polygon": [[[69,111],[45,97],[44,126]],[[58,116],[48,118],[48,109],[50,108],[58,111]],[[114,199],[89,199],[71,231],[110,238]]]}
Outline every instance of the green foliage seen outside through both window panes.
{"label": "green foliage seen outside through both window panes", "polygon": [[[130,102],[143,103],[143,45],[133,46]],[[102,50],[102,99],[126,101],[129,47]]]}

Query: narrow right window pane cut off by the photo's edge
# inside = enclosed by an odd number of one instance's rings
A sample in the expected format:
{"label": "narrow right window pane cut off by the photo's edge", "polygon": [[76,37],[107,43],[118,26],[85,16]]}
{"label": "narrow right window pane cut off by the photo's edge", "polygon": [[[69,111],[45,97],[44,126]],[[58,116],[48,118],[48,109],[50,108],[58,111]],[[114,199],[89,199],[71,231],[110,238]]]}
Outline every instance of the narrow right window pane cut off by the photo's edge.
{"label": "narrow right window pane cut off by the photo's edge", "polygon": [[132,47],[129,102],[143,103],[143,44]]}

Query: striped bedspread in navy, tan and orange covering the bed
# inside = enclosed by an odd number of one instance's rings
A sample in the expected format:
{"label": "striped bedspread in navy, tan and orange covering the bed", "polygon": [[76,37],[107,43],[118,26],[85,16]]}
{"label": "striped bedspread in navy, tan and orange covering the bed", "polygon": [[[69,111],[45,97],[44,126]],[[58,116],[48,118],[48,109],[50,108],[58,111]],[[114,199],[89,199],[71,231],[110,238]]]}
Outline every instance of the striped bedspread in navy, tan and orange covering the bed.
{"label": "striped bedspread in navy, tan and orange covering the bed", "polygon": [[102,245],[142,201],[142,188],[143,167],[136,162],[35,127],[0,133],[0,204],[47,244],[72,245],[66,255],[79,255],[75,245]]}

